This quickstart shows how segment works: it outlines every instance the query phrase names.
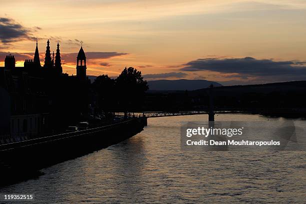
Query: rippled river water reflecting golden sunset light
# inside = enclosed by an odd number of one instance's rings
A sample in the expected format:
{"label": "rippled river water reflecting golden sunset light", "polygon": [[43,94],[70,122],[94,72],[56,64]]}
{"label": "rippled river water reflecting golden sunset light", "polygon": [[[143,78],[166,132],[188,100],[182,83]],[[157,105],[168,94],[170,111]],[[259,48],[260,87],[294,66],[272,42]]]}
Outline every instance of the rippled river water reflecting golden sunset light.
{"label": "rippled river water reflecting golden sunset light", "polygon": [[[286,120],[249,114],[215,119]],[[305,202],[305,151],[182,151],[181,122],[201,120],[207,115],[149,118],[137,135],[44,168],[38,178],[1,193],[34,194],[30,203]]]}

